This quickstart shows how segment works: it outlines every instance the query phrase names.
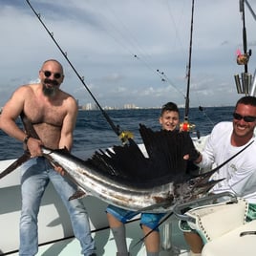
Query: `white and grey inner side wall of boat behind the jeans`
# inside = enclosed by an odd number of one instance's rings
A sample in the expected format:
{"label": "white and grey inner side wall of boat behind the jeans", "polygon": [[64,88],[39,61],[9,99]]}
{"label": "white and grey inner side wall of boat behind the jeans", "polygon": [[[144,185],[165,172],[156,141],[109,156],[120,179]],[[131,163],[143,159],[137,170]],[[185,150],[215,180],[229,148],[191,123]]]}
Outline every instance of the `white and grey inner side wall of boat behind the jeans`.
{"label": "white and grey inner side wall of boat behind the jeans", "polygon": [[[13,160],[1,161],[1,169],[11,164],[11,161]],[[82,200],[89,212],[92,230],[108,226],[105,216],[106,203],[93,197]],[[18,170],[0,180],[0,205],[0,250],[7,253],[19,247],[21,193]],[[69,215],[50,182],[38,215],[39,244],[72,236],[74,233]]]}

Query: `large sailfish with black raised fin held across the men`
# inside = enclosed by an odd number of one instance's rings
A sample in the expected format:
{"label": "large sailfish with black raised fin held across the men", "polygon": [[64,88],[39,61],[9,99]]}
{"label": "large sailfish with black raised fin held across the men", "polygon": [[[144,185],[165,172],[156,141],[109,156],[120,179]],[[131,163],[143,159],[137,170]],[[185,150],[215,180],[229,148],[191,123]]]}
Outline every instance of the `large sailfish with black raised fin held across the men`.
{"label": "large sailfish with black raised fin held across the men", "polygon": [[[21,118],[26,133],[38,139],[30,120],[23,113]],[[63,168],[65,178],[77,185],[79,196],[95,196],[134,211],[169,212],[177,204],[202,198],[218,182],[209,181],[216,170],[197,176],[189,172],[183,156],[194,160],[198,152],[187,132],[156,132],[139,124],[139,133],[146,155],[134,139],[100,149],[87,160],[76,158],[65,148],[53,150],[42,146],[42,154],[53,166]],[[26,152],[2,174],[10,173],[30,157]],[[71,199],[76,196],[71,195]]]}

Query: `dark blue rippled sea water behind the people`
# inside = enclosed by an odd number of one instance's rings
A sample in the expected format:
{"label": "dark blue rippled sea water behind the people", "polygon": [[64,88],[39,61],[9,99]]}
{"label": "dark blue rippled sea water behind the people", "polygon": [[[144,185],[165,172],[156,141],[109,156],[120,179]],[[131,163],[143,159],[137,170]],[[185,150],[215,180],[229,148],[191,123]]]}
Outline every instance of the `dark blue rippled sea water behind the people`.
{"label": "dark blue rippled sea water behind the people", "polygon": [[[232,120],[233,107],[191,108],[189,121],[196,125],[191,137],[210,133],[214,124],[222,120]],[[106,111],[115,125],[119,125],[121,131],[130,131],[134,134],[136,142],[140,143],[139,123],[146,125],[154,131],[160,129],[160,109],[133,109]],[[184,110],[181,109],[181,120]],[[17,121],[18,125],[21,122]],[[120,140],[112,130],[109,123],[100,111],[79,111],[74,134],[73,152],[83,158],[82,152],[94,152],[98,149],[106,149],[113,145],[119,145]],[[15,159],[23,153],[20,141],[12,139],[0,130],[0,160]],[[88,155],[88,154],[87,154]]]}

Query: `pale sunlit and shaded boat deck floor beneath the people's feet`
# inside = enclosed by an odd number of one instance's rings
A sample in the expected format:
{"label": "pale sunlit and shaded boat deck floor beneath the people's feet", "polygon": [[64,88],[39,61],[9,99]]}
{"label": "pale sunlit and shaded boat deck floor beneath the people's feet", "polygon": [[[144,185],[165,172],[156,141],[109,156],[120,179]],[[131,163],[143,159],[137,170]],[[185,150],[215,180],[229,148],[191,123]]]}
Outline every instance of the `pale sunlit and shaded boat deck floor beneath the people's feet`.
{"label": "pale sunlit and shaded boat deck floor beneath the people's feet", "polygon": [[[168,222],[170,224],[170,222]],[[160,226],[161,242],[163,243],[163,225]],[[172,219],[170,226],[171,228],[171,239],[168,242],[171,245],[170,249],[161,248],[160,256],[174,256],[181,255],[187,256],[187,248],[183,240],[181,231],[178,228],[177,221]],[[96,241],[96,253],[97,256],[110,256],[116,255],[116,245],[114,238],[112,236],[111,230],[106,227],[104,229],[95,231],[92,233]],[[127,245],[132,256],[145,256],[146,250],[143,243],[136,245],[139,239],[142,237],[142,232],[139,227],[139,220],[132,221],[126,224],[126,234],[127,234]],[[18,252],[10,252],[2,255],[17,256]],[[70,256],[70,255],[81,255],[79,242],[74,238],[64,239],[60,241],[55,241],[47,245],[40,245],[39,251],[36,256]]]}

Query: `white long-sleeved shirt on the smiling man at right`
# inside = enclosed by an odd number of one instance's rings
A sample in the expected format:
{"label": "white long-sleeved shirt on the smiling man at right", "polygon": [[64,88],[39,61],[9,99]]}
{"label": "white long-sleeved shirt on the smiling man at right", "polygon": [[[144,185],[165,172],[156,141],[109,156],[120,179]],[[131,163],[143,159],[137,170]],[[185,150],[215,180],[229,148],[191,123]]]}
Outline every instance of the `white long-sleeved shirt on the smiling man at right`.
{"label": "white long-sleeved shirt on the smiling man at right", "polygon": [[250,139],[242,147],[231,145],[232,122],[220,122],[212,130],[203,149],[203,161],[200,167],[209,167],[213,163],[217,166],[241,151],[251,141],[245,151],[234,159],[228,161],[219,169],[211,179],[224,179],[217,183],[211,190],[214,193],[230,191],[239,197],[245,198],[248,203],[256,203],[256,142]]}

